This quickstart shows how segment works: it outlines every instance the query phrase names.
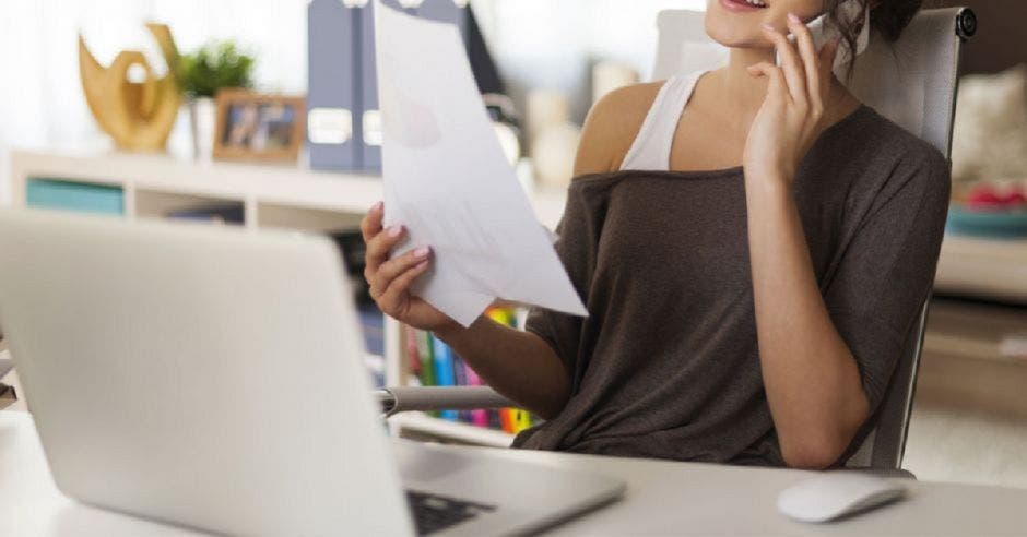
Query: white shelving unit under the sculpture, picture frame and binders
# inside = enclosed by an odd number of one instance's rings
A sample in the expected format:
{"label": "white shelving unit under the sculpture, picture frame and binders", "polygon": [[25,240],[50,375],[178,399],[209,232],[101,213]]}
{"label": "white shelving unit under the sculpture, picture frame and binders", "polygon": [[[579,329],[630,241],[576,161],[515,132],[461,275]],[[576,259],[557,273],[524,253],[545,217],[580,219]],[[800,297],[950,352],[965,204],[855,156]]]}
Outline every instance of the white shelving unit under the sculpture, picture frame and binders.
{"label": "white shelving unit under the sculpture, picture frame and binders", "polygon": [[[356,227],[375,202],[382,199],[381,178],[366,174],[335,174],[295,165],[196,162],[164,154],[119,152],[17,151],[11,154],[12,205],[26,205],[29,180],[47,179],[120,188],[127,218],[163,218],[169,211],[206,202],[238,202],[250,229],[287,228],[327,231]],[[535,214],[555,228],[563,214],[565,193],[532,192]],[[402,372],[400,325],[386,322],[386,382],[405,383]],[[426,415],[393,419],[393,430],[483,445],[509,445],[512,438]]]}

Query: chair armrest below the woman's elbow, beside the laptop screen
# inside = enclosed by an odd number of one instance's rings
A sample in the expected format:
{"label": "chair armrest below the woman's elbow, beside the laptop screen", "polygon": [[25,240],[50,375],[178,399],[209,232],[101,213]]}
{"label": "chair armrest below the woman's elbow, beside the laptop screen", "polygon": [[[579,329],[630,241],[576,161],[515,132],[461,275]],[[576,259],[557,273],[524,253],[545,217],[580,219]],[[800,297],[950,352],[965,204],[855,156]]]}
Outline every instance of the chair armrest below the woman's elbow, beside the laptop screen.
{"label": "chair armrest below the woman's elbow, beside the laptop screen", "polygon": [[387,387],[375,392],[386,417],[412,410],[477,410],[516,407],[512,401],[487,386]]}

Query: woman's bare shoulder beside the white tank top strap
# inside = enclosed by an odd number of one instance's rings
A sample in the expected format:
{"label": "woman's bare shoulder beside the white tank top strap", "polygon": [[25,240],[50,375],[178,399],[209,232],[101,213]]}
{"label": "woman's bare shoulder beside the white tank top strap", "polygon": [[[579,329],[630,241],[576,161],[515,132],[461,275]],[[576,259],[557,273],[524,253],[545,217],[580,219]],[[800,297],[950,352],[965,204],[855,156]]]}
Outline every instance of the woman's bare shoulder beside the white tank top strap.
{"label": "woman's bare shoulder beside the white tank top strap", "polygon": [[581,131],[576,177],[621,168],[662,86],[662,81],[625,86],[592,106]]}

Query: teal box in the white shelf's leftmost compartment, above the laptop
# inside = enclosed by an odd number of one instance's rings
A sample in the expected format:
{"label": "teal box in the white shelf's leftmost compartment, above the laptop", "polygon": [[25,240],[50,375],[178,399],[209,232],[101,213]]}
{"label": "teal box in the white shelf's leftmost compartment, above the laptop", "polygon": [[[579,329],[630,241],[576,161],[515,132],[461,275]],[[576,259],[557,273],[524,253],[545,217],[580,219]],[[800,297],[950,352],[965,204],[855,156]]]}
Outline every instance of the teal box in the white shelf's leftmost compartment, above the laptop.
{"label": "teal box in the white shelf's leftmost compartment, above the laptop", "polygon": [[120,187],[105,184],[29,179],[25,186],[25,204],[33,208],[121,216],[125,192]]}

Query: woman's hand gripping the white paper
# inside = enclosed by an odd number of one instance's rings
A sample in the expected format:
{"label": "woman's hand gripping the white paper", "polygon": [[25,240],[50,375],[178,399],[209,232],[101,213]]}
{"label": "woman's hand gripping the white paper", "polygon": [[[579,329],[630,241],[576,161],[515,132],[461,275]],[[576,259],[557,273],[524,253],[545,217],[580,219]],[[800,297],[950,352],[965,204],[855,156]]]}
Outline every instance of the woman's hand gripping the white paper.
{"label": "woman's hand gripping the white paper", "polygon": [[423,246],[390,259],[392,248],[403,239],[403,226],[381,228],[385,205],[375,204],[361,220],[361,232],[367,244],[364,278],[370,284],[370,296],[387,315],[415,329],[437,331],[456,324],[428,302],[410,294],[410,286],[432,264],[432,249]]}

